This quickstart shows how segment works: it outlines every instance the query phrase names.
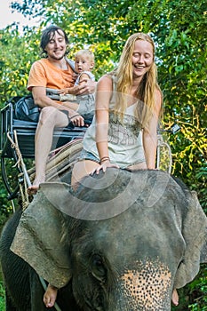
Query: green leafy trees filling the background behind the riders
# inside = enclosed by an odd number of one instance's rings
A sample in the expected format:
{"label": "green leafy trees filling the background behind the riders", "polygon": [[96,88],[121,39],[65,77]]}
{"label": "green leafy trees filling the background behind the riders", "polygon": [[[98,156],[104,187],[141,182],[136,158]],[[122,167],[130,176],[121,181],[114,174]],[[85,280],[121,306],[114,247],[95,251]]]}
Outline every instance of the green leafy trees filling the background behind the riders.
{"label": "green leafy trees filling the background behind the riders", "polygon": [[[39,16],[40,24],[20,31],[13,23],[0,30],[0,108],[12,96],[27,93],[29,68],[40,57],[41,31],[50,24],[66,30],[71,59],[83,47],[95,53],[97,79],[115,67],[132,33],[142,31],[154,38],[163,90],[163,127],[177,123],[181,128],[176,135],[168,135],[172,173],[197,191],[207,212],[206,1],[24,0],[22,4],[14,1],[12,8],[31,19]],[[2,226],[12,206],[1,178],[0,184]],[[179,296],[179,307],[172,310],[207,310],[206,265]]]}

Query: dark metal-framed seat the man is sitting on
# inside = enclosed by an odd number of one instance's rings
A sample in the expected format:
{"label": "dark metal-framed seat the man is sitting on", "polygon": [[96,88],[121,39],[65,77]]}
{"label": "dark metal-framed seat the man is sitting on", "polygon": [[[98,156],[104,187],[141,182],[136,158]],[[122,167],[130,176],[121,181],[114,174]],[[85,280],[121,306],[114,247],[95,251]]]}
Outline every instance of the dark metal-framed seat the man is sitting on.
{"label": "dark metal-framed seat the man is sitting on", "polygon": [[[22,121],[15,118],[14,105],[20,97],[14,97],[8,101],[4,108],[1,109],[1,129],[0,129],[0,150],[1,150],[1,168],[4,186],[9,194],[8,199],[17,197],[19,192],[19,182],[15,187],[11,186],[8,176],[8,168],[6,167],[6,159],[12,159],[18,162],[16,149],[12,148],[11,140],[14,141],[14,133],[18,139],[20,153],[23,159],[35,159],[35,135],[36,126],[34,122]],[[52,149],[60,148],[71,140],[83,138],[87,127],[67,127],[55,128],[53,132]],[[20,166],[17,165],[17,175],[22,172]]]}

